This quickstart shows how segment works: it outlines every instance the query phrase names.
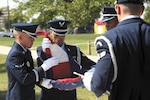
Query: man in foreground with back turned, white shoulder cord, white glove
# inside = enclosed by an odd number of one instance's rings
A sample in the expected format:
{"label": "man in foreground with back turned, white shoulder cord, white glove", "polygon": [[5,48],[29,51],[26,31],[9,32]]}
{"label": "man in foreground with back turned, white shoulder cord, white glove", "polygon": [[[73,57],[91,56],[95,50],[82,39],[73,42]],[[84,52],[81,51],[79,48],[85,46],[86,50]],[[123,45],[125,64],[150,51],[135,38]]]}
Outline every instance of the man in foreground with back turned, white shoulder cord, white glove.
{"label": "man in foreground with back turned, white shoulder cord, white glove", "polygon": [[110,90],[109,100],[150,100],[150,25],[140,18],[143,0],[117,0],[115,9],[119,23],[95,39],[99,60],[94,74],[84,74],[84,85],[97,97]]}

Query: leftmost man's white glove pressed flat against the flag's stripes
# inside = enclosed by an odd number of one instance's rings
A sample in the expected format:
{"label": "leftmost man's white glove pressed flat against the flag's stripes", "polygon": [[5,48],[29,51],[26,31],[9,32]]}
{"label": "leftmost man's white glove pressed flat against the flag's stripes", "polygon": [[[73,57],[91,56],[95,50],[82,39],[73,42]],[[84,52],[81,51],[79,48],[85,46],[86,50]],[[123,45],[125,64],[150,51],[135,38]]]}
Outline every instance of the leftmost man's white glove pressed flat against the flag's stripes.
{"label": "leftmost man's white glove pressed flat against the flag's stripes", "polygon": [[56,66],[59,64],[59,59],[57,57],[51,57],[43,62],[41,67],[44,71],[47,71],[48,69],[52,68],[53,66]]}

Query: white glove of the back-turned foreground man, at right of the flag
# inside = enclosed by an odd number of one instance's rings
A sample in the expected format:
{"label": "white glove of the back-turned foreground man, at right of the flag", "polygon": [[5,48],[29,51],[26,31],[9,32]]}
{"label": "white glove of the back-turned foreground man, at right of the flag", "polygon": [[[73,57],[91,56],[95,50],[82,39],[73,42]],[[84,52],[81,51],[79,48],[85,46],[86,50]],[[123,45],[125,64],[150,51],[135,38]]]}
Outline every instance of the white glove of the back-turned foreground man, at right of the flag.
{"label": "white glove of the back-turned foreground man, at right of the flag", "polygon": [[89,71],[84,73],[83,84],[89,91],[91,91],[91,80],[94,72],[95,72],[95,68],[92,68]]}

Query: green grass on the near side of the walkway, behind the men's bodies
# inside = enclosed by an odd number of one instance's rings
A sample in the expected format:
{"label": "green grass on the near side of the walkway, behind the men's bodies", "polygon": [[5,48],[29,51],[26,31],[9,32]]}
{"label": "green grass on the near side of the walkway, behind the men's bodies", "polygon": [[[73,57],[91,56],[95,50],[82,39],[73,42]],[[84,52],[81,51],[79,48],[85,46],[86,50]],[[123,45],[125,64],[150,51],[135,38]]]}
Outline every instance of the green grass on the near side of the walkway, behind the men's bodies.
{"label": "green grass on the near side of the walkway, behind the men's bodies", "polygon": [[[0,54],[0,100],[5,100],[7,84],[8,84],[7,72],[5,68],[5,59],[6,59],[6,55]],[[34,62],[36,66],[36,61]],[[36,90],[36,98],[38,100],[40,94],[40,88],[36,86],[35,90]],[[78,88],[77,97],[78,100],[96,100],[94,93],[88,91],[86,88]],[[103,95],[98,100],[107,100],[107,96]]]}

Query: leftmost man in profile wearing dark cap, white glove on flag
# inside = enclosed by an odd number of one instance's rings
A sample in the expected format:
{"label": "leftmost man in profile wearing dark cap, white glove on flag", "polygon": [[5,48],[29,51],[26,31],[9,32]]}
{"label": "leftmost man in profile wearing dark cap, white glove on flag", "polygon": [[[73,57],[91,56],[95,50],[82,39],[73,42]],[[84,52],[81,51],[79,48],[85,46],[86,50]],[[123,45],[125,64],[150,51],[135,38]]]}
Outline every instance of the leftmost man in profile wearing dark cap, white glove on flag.
{"label": "leftmost man in profile wearing dark cap, white glove on flag", "polygon": [[14,23],[15,42],[7,56],[8,91],[6,100],[35,100],[34,84],[44,77],[44,71],[58,64],[56,57],[44,61],[34,69],[29,48],[36,38],[39,24]]}

